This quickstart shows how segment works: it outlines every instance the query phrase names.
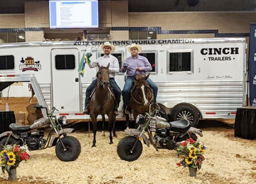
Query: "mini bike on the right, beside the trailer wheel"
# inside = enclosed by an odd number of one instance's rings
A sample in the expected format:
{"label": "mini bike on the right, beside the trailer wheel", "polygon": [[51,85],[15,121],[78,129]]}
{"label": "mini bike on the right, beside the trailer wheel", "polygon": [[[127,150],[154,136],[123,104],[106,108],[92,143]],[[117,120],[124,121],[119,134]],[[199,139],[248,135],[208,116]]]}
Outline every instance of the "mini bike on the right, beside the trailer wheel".
{"label": "mini bike on the right, beside the trailer wheel", "polygon": [[[137,129],[125,130],[128,136],[121,139],[117,145],[117,154],[122,160],[137,160],[142,153],[142,140],[148,147],[152,144],[158,151],[158,149],[173,150],[179,146],[180,142],[189,138],[196,141],[196,134],[203,136],[202,131],[191,127],[189,121],[183,119],[167,122],[159,116],[160,107],[151,111],[151,106],[149,106],[149,113],[137,116],[135,120],[139,125]],[[145,132],[149,138],[144,134]]]}

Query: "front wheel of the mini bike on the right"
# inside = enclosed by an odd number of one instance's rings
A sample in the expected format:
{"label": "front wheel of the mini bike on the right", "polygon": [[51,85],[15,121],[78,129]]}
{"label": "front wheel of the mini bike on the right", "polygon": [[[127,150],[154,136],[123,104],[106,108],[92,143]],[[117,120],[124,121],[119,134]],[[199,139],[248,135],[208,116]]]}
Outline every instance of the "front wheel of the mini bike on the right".
{"label": "front wheel of the mini bike on the right", "polygon": [[[137,160],[142,153],[142,144],[137,141],[137,137],[135,136],[127,136],[121,139],[121,141],[117,145],[117,154],[122,160],[126,161],[134,161]],[[137,141],[135,145],[135,149],[133,153],[130,153],[130,150],[133,148],[133,145]]]}

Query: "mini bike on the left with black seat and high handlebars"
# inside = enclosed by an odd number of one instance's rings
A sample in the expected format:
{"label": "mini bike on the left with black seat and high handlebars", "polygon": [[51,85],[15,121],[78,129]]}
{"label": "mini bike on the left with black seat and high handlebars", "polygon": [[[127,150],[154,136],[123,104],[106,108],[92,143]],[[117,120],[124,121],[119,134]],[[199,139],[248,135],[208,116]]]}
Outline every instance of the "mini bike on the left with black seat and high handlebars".
{"label": "mini bike on the left with black seat and high handlebars", "polygon": [[[41,150],[55,146],[55,153],[62,161],[73,161],[78,158],[81,152],[81,145],[78,139],[72,136],[67,136],[66,133],[74,131],[72,128],[64,128],[66,124],[66,116],[60,116],[58,119],[53,115],[57,110],[53,107],[52,112],[49,113],[47,107],[36,104],[34,107],[45,109],[47,113],[46,118],[35,120],[32,125],[21,126],[16,123],[9,125],[9,130],[0,134],[0,151],[4,145],[19,144],[26,145],[29,150]],[[45,136],[44,131],[38,131],[40,127],[50,125],[50,131]]]}

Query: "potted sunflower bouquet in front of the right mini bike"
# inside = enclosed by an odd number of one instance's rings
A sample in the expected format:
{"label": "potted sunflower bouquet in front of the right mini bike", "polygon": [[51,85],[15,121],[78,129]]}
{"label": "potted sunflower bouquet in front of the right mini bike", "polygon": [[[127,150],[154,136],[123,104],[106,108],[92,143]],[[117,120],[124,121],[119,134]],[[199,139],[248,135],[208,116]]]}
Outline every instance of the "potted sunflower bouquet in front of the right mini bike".
{"label": "potted sunflower bouquet in front of the right mini bike", "polygon": [[206,147],[199,141],[194,141],[192,138],[180,143],[177,148],[177,155],[181,159],[176,163],[178,166],[189,167],[190,176],[196,176],[197,169],[201,169],[204,161],[203,154]]}

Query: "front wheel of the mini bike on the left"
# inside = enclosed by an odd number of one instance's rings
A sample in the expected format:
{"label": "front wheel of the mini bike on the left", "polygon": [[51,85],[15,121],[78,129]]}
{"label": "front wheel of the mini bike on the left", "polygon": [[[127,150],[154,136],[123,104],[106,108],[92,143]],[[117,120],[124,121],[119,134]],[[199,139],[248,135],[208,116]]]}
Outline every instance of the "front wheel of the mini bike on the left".
{"label": "front wheel of the mini bike on the left", "polygon": [[65,136],[62,137],[62,142],[66,147],[66,150],[64,150],[60,141],[58,141],[55,146],[55,153],[59,160],[64,162],[76,160],[81,152],[81,144],[78,139],[71,136]]}

